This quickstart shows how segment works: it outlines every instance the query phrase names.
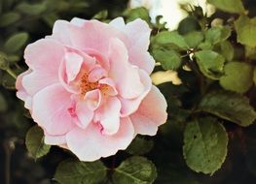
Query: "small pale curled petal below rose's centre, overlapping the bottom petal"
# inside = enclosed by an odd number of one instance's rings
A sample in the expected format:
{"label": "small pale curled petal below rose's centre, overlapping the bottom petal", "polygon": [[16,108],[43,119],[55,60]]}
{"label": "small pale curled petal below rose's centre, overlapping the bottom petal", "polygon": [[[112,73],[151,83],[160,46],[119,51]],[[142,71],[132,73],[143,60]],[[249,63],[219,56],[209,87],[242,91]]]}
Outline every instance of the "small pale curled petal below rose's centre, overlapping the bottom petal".
{"label": "small pale curled petal below rose's centre, overlapping the bottom petal", "polygon": [[108,97],[104,104],[98,108],[95,114],[95,121],[102,125],[102,133],[114,135],[120,127],[120,109],[121,103],[116,97]]}

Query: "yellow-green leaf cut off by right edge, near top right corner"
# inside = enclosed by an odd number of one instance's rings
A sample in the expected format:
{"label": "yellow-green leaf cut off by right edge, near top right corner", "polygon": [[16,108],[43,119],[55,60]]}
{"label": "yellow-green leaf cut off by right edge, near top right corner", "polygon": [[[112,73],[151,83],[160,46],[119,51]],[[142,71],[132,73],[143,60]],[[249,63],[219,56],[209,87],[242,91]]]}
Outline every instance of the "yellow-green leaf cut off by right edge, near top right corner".
{"label": "yellow-green leaf cut off by right edge, near top right corner", "polygon": [[256,46],[256,17],[249,18],[246,15],[240,15],[235,21],[235,28],[238,33],[238,43],[246,46]]}

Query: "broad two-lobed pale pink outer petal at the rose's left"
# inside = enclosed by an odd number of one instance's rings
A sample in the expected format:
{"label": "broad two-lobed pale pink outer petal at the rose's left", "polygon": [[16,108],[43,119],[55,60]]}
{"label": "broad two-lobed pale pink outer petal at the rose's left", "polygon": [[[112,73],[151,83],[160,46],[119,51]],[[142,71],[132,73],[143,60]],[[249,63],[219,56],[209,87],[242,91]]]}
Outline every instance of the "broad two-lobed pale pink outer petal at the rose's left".
{"label": "broad two-lobed pale pink outer petal at the rose's left", "polygon": [[64,47],[50,39],[26,47],[24,58],[32,72],[23,76],[21,83],[30,96],[58,81],[57,71],[63,56]]}

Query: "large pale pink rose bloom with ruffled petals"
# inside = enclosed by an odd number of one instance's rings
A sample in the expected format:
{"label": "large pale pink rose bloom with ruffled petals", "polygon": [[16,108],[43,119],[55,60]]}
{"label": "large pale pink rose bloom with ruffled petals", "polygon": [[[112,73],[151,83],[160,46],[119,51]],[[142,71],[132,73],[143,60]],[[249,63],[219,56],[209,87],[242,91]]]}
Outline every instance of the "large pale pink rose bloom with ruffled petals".
{"label": "large pale pink rose bloom with ruffled petals", "polygon": [[18,76],[17,96],[47,144],[94,161],[126,149],[137,134],[156,135],[167,114],[149,77],[150,32],[142,19],[57,20],[51,36],[25,48],[29,69]]}

